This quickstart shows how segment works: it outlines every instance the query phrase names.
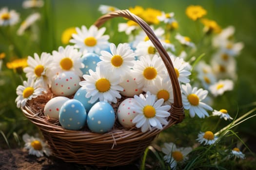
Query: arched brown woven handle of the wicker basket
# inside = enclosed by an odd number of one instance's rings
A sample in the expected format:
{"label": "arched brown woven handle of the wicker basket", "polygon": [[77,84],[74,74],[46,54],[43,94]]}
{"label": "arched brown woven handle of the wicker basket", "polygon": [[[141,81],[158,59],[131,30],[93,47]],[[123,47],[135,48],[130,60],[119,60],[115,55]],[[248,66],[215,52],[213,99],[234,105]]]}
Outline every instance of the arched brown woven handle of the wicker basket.
{"label": "arched brown woven handle of the wicker basket", "polygon": [[106,15],[103,15],[98,18],[98,20],[94,23],[98,28],[105,23],[108,19],[113,17],[125,17],[134,22],[138,23],[138,25],[142,28],[142,30],[148,35],[149,39],[152,41],[160,57],[162,58],[165,67],[167,68],[168,74],[170,76],[172,86],[173,86],[173,95],[174,95],[174,103],[171,107],[171,118],[175,119],[177,123],[181,122],[184,119],[184,108],[182,105],[181,92],[179,87],[179,82],[176,76],[176,72],[173,67],[173,63],[168,53],[163,48],[162,44],[158,40],[157,36],[153,32],[153,30],[149,27],[149,25],[140,17],[132,14],[129,10],[118,10],[114,12],[110,12]]}

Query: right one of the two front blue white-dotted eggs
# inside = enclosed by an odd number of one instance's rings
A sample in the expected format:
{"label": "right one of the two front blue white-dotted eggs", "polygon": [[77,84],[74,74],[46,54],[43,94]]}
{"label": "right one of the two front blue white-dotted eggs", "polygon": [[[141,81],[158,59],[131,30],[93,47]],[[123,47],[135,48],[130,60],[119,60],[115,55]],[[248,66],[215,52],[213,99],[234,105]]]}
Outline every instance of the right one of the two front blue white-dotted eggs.
{"label": "right one of the two front blue white-dotted eggs", "polygon": [[115,124],[115,112],[108,102],[95,103],[88,112],[88,128],[95,133],[105,133]]}

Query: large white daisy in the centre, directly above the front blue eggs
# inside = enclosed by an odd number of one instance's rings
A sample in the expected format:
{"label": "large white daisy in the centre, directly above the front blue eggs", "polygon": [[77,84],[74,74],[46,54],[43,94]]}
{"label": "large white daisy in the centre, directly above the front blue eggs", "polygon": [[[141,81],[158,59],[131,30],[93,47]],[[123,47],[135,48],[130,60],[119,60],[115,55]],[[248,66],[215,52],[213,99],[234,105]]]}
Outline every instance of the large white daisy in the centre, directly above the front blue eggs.
{"label": "large white daisy in the centre, directly above the front blue eggs", "polygon": [[99,101],[117,103],[117,98],[120,99],[119,91],[123,88],[119,86],[120,79],[114,76],[112,72],[106,71],[103,66],[96,67],[96,72],[89,69],[89,74],[84,74],[85,81],[81,81],[79,85],[86,88],[86,98],[90,98],[90,103]]}

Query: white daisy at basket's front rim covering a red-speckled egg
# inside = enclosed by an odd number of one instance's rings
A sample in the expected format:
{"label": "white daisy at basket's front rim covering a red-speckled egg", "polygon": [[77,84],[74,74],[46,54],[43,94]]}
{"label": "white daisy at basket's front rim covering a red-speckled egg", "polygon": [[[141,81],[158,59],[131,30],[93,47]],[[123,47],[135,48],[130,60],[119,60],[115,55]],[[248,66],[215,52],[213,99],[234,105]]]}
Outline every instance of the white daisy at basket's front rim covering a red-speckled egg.
{"label": "white daisy at basket's front rim covering a red-speckled egg", "polygon": [[152,130],[152,127],[162,129],[162,124],[167,125],[167,117],[170,116],[168,110],[170,110],[170,105],[162,106],[164,100],[159,99],[156,101],[157,97],[152,95],[149,91],[146,93],[146,97],[143,94],[139,96],[135,95],[135,105],[134,111],[138,115],[133,119],[133,123],[136,123],[136,127],[141,127],[141,132],[146,132]]}

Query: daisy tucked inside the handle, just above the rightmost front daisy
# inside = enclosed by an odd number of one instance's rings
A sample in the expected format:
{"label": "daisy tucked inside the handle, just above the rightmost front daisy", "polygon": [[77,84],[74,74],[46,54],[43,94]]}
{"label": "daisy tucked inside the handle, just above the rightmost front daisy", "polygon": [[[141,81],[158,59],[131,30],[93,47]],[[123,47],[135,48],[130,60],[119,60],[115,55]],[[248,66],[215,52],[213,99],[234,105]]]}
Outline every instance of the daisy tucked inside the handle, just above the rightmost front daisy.
{"label": "daisy tucked inside the handle, just above the rightmost front daisy", "polygon": [[157,99],[164,99],[164,105],[171,105],[174,102],[173,87],[171,80],[169,77],[167,78],[161,79],[157,77],[152,85],[146,85],[142,90],[150,91],[151,94],[157,96]]}

